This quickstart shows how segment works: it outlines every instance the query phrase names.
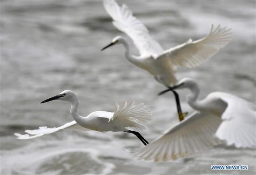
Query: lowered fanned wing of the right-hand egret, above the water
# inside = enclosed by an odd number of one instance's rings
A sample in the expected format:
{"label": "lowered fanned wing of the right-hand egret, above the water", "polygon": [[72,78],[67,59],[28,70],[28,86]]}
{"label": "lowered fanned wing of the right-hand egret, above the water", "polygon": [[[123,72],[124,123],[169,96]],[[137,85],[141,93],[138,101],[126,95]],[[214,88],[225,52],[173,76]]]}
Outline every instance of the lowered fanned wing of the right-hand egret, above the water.
{"label": "lowered fanned wing of the right-hand egret, above the water", "polygon": [[214,136],[221,119],[195,112],[168,129],[151,144],[135,152],[139,159],[165,162],[211,148],[221,141]]}

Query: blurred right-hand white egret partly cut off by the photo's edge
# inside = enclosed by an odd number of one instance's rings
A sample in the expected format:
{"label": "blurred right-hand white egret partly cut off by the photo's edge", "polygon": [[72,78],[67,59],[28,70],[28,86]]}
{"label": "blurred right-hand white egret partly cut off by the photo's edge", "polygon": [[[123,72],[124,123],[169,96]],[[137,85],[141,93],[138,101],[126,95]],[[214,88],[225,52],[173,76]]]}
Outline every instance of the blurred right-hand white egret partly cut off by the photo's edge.
{"label": "blurred right-hand white egret partly cut off by the photo's edge", "polygon": [[256,146],[256,106],[232,94],[210,93],[198,101],[199,88],[193,79],[184,78],[162,91],[189,88],[189,105],[197,110],[168,129],[145,148],[136,151],[139,159],[168,161],[226,142],[228,146]]}

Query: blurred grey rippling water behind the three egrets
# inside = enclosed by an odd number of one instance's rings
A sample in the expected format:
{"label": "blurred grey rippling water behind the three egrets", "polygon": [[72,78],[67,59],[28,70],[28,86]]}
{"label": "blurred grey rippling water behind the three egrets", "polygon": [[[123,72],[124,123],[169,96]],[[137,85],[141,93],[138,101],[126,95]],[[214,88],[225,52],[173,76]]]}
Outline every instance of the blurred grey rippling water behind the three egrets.
{"label": "blurred grey rippling water behind the three egrets", "polygon": [[[73,90],[83,116],[113,111],[115,101],[135,100],[154,118],[141,134],[154,140],[178,122],[171,93],[125,59],[121,45],[104,52],[116,35],[102,2],[96,0],[2,0],[0,6],[0,174],[256,174],[255,149],[217,146],[166,163],[136,161],[125,149],[143,145],[126,133],[60,131],[32,140],[13,133],[72,121],[70,105],[40,104]],[[200,98],[212,91],[256,101],[255,0],[127,0],[125,3],[167,49],[209,33],[211,24],[232,27],[233,40],[210,61],[177,77],[195,78]],[[126,37],[127,38],[127,37]],[[130,44],[132,42],[130,41]],[[137,51],[134,49],[134,53]],[[184,111],[188,90],[180,91]],[[248,171],[212,171],[210,165],[249,165]]]}

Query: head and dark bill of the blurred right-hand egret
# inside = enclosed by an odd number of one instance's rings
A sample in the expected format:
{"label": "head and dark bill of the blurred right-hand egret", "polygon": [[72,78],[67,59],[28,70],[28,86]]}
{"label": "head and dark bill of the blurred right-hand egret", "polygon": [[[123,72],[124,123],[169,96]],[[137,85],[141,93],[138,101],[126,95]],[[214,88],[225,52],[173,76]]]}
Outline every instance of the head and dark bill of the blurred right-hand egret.
{"label": "head and dark bill of the blurred right-hand egret", "polygon": [[184,89],[184,88],[189,88],[193,89],[196,87],[197,84],[194,79],[192,78],[183,78],[182,80],[178,81],[175,85],[169,87],[167,90],[160,92],[158,95],[165,94],[168,91],[173,91],[176,89]]}

